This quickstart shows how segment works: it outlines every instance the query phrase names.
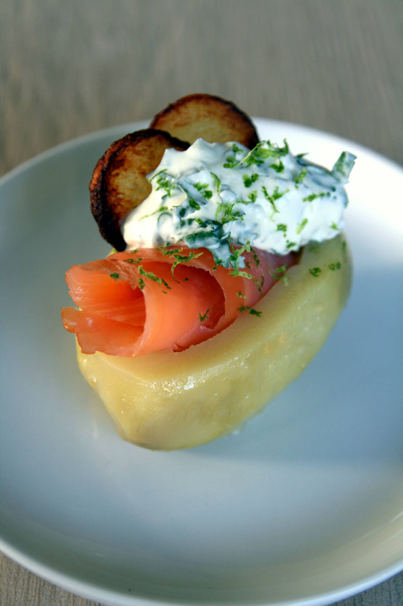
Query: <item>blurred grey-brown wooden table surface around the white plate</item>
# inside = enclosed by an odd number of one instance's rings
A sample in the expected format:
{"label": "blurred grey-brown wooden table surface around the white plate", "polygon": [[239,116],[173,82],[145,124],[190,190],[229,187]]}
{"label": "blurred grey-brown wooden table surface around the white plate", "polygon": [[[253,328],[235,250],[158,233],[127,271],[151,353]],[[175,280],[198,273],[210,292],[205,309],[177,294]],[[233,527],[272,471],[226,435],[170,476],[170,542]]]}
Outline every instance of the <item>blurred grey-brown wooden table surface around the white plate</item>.
{"label": "blurred grey-brown wooden table surface around the white plate", "polygon": [[[0,0],[0,175],[193,92],[403,164],[401,0]],[[89,606],[0,554],[1,606]],[[403,573],[343,606],[403,604]]]}

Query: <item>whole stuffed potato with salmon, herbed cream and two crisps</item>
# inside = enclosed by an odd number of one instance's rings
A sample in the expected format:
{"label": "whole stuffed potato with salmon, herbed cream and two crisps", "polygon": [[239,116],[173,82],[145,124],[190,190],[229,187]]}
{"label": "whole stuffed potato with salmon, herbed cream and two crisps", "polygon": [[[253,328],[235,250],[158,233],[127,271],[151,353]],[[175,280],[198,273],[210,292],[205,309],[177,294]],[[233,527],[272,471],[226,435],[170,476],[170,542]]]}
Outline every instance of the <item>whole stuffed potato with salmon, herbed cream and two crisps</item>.
{"label": "whole stuffed potato with salmon, herbed cream and two crisps", "polygon": [[344,184],[259,141],[231,102],[190,95],[114,142],[90,183],[115,249],[66,273],[80,369],[120,435],[172,450],[217,438],[293,381],[346,302]]}

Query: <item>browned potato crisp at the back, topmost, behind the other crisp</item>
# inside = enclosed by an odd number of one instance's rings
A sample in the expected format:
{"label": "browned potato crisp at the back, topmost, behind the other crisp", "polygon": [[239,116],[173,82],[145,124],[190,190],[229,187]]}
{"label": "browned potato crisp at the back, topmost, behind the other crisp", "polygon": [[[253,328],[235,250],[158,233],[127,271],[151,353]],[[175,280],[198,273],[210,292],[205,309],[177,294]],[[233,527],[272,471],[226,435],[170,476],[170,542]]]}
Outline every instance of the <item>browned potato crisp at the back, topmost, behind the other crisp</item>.
{"label": "browned potato crisp at the back, topmost, behind the other crisp", "polygon": [[161,128],[190,143],[201,137],[210,143],[237,141],[252,149],[259,142],[253,122],[245,112],[231,101],[204,93],[187,95],[171,103],[154,116],[150,128]]}

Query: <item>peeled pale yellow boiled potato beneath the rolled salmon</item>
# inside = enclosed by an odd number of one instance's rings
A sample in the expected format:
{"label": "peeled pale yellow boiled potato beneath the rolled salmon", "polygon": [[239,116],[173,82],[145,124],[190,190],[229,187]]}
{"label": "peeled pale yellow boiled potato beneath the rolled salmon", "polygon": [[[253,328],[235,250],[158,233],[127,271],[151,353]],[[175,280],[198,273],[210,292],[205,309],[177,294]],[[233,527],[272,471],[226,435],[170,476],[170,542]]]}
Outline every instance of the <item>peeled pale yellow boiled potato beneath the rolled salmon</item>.
{"label": "peeled pale yellow boiled potato beneath the rolled salmon", "polygon": [[78,347],[80,370],[122,438],[161,450],[204,444],[234,430],[300,375],[343,310],[351,273],[343,236],[305,247],[287,271],[288,285],[280,280],[255,305],[262,316],[243,313],[219,335],[180,352],[120,358]]}

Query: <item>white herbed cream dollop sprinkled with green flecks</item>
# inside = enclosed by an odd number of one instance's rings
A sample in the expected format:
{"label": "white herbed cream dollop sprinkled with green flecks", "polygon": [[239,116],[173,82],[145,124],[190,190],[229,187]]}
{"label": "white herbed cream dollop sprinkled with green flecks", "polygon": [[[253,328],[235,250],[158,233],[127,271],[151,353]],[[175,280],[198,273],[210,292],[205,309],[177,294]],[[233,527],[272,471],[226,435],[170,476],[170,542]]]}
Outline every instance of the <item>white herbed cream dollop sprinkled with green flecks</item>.
{"label": "white herbed cream dollop sprinkled with green flecks", "polygon": [[152,192],[127,216],[123,238],[128,247],[205,247],[224,267],[244,267],[234,247],[286,255],[343,230],[354,161],[343,151],[329,171],[293,156],[286,141],[248,150],[198,139],[186,151],[170,148],[147,175]]}

